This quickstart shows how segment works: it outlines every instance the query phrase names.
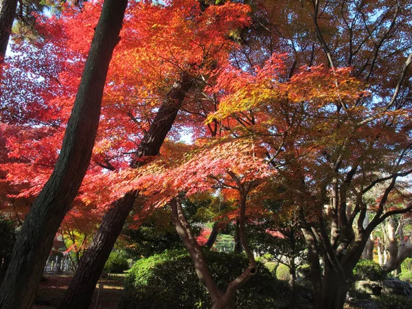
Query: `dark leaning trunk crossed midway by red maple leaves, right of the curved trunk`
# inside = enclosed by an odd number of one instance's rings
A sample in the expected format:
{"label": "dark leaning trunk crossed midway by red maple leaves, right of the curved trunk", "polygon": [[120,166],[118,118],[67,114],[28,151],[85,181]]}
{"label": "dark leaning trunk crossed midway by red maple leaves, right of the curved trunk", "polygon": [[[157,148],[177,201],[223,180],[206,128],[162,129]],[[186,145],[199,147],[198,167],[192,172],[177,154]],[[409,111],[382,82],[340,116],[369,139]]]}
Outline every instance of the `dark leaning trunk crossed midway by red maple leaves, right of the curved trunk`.
{"label": "dark leaning trunk crossed midway by red maple leaves, right of the curved trunk", "polygon": [[[133,168],[144,165],[142,157],[159,155],[159,150],[166,135],[168,135],[174,119],[181,108],[187,91],[192,85],[192,78],[183,74],[168,93],[148,132],[141,140],[139,148],[131,163]],[[93,291],[103,271],[104,264],[110,255],[113,246],[122,231],[126,218],[133,208],[137,192],[129,192],[124,198],[113,203],[102,220],[98,232],[91,245],[82,256],[60,309],[87,309],[89,308]]]}

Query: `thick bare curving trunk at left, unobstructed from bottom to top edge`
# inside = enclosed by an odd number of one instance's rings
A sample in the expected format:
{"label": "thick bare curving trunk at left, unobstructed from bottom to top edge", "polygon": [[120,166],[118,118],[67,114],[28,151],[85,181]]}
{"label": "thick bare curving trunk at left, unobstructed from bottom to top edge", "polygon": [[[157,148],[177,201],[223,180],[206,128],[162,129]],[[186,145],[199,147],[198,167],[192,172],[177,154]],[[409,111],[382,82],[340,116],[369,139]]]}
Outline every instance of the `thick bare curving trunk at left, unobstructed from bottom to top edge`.
{"label": "thick bare curving trunk at left, unobstructed from bottom to top edge", "polygon": [[56,167],[32,204],[0,288],[0,308],[31,308],[54,236],[90,163],[113,49],[127,0],[104,1]]}

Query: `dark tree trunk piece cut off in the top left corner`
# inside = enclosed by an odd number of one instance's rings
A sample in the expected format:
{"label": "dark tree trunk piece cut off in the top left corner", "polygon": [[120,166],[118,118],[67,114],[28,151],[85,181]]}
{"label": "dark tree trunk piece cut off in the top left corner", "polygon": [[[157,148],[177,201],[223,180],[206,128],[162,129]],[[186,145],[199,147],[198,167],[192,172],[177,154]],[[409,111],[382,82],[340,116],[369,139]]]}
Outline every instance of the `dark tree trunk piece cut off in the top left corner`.
{"label": "dark tree trunk piece cut off in the top left corner", "polygon": [[16,9],[17,0],[0,0],[0,65],[4,61]]}

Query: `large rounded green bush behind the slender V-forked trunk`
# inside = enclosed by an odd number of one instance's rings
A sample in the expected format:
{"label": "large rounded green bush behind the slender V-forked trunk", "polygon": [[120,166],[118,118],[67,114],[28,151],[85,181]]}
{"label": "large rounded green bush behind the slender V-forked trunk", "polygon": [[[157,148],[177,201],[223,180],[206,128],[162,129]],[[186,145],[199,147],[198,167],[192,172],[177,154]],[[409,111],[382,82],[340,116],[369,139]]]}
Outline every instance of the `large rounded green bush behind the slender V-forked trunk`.
{"label": "large rounded green bush behind the slender V-forked trunk", "polygon": [[[247,258],[232,253],[207,251],[205,260],[222,290],[248,266]],[[258,269],[258,273],[238,290],[237,308],[274,308],[276,279],[263,264],[258,263]],[[121,309],[211,307],[210,297],[194,271],[192,259],[183,251],[165,251],[137,261],[126,277],[125,290],[119,304]]]}

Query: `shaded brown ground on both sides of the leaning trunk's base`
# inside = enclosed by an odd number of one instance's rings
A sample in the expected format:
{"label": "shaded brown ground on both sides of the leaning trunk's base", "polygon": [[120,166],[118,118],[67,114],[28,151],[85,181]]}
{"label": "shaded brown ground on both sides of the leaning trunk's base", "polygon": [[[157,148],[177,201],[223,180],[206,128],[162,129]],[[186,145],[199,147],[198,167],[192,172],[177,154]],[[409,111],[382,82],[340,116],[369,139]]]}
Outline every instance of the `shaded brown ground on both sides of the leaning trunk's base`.
{"label": "shaded brown ground on both sides of the leaning trunk's base", "polygon": [[[45,276],[45,281],[41,282],[38,287],[36,303],[34,309],[52,309],[57,308],[69,286],[71,276],[69,275],[49,275]],[[103,284],[100,290],[98,306],[98,288],[96,288],[91,301],[90,309],[115,309],[122,298],[124,275],[111,275],[108,279],[100,279],[99,284]]]}

